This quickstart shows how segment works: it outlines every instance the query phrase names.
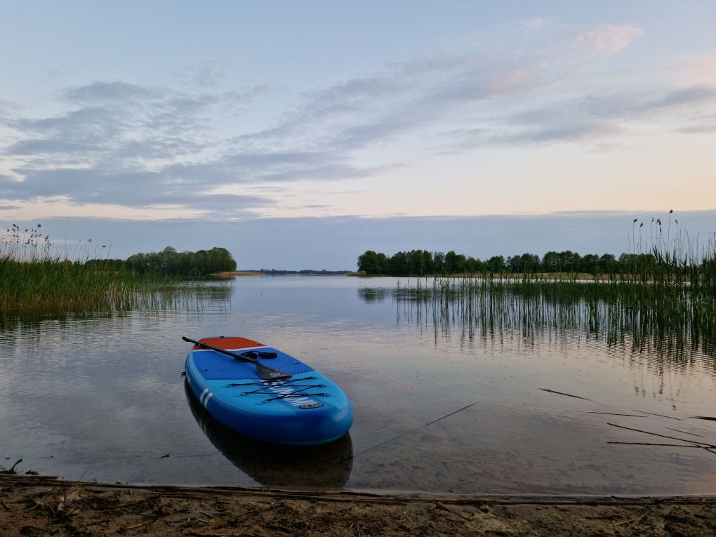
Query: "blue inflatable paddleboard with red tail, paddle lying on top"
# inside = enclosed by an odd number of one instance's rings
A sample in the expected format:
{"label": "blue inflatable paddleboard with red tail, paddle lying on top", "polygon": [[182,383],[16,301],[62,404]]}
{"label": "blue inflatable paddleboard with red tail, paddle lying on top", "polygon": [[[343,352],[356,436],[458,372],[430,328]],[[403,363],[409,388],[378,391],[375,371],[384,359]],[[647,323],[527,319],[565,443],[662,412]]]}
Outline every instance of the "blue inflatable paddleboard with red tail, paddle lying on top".
{"label": "blue inflatable paddleboard with red tail, paddle lying on top", "polygon": [[332,442],[351,427],[343,390],[291,355],[243,337],[184,339],[195,343],[186,357],[189,387],[223,425],[292,445]]}

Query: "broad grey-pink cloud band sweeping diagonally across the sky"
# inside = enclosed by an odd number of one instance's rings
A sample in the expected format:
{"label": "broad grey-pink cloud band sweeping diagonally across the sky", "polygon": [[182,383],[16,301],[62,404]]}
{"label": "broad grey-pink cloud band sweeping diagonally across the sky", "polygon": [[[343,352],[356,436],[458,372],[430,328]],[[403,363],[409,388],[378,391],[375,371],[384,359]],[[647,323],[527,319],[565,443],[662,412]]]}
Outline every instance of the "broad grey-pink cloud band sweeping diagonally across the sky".
{"label": "broad grey-pink cloud band sweeping diagonally across the sky", "polygon": [[[0,113],[0,122],[16,132],[0,155],[11,158],[11,173],[23,178],[0,177],[0,194],[246,211],[270,205],[274,193],[228,196],[224,205],[213,193],[264,183],[372,178],[425,152],[591,145],[626,135],[629,122],[654,121],[677,107],[693,107],[696,114],[714,100],[714,89],[705,84],[635,90],[620,86],[615,76],[609,91],[594,81],[587,87],[584,73],[603,68],[606,59],[639,39],[643,32],[636,26],[574,30],[533,19],[509,30],[516,27],[521,34],[515,47],[505,44],[503,29],[288,100],[261,102],[271,112],[283,107],[272,115],[279,120],[262,128],[243,125],[242,117],[231,114],[257,106],[271,88],[261,81],[230,85],[222,64],[183,72],[186,80],[207,82],[201,85],[96,80],[69,87],[59,92],[62,111],[55,115]],[[708,125],[689,124],[690,117],[681,121],[682,130]],[[393,156],[364,159],[374,148],[392,148],[384,153]]]}

